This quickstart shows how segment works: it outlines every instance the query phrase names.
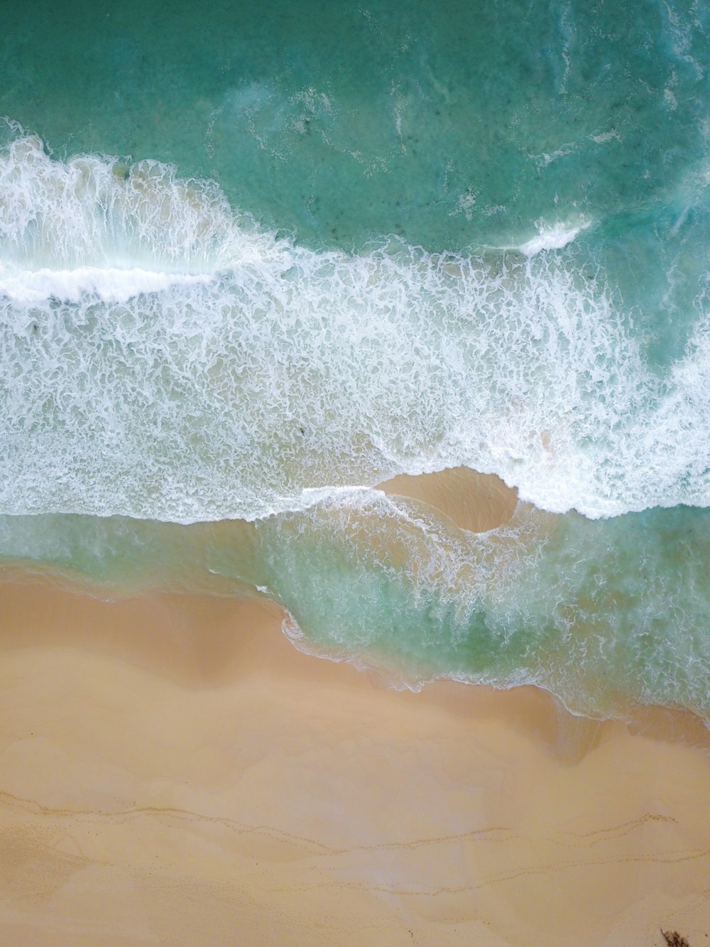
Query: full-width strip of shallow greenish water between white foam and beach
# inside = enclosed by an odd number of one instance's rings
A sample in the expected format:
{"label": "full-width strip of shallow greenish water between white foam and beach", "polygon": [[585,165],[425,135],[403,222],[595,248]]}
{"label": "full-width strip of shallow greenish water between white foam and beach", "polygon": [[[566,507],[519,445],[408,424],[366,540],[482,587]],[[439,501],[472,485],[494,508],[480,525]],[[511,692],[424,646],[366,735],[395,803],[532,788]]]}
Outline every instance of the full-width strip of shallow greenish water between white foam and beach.
{"label": "full-width strip of shallow greenish water between white foam and beach", "polygon": [[473,534],[416,501],[356,491],[256,525],[3,517],[0,551],[109,598],[251,589],[289,611],[298,648],[398,687],[535,684],[581,714],[663,705],[707,719],[709,527],[705,510],[593,522],[520,504]]}

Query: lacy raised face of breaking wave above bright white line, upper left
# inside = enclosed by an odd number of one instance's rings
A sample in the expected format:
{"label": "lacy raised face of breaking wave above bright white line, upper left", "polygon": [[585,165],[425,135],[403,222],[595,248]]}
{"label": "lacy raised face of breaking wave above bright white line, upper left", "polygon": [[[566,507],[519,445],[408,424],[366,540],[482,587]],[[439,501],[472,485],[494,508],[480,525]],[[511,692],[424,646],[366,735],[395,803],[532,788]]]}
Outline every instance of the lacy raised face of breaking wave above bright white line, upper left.
{"label": "lacy raised face of breaking wave above bright white line, upper left", "polygon": [[151,160],[131,165],[83,154],[56,161],[38,137],[15,131],[0,155],[6,267],[215,272],[273,242],[256,232],[247,238],[247,219],[236,218],[214,184],[196,186]]}

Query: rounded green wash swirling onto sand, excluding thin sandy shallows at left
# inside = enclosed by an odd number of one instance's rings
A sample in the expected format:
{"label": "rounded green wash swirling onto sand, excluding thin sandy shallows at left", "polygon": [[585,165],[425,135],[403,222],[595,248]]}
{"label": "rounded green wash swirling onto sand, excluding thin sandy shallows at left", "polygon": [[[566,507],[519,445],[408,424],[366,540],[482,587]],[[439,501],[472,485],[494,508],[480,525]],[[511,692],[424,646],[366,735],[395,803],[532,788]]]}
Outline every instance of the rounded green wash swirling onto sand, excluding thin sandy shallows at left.
{"label": "rounded green wash swirling onto sand, excluding thin sandy shallows at left", "polygon": [[[373,514],[366,504],[360,523],[349,507],[313,512],[302,545],[284,542],[289,518],[258,525],[269,587],[307,647],[403,668],[410,682],[534,683],[581,713],[636,702],[707,716],[706,511],[591,522],[521,505],[481,536]],[[362,548],[378,530],[388,551],[373,562]]]}

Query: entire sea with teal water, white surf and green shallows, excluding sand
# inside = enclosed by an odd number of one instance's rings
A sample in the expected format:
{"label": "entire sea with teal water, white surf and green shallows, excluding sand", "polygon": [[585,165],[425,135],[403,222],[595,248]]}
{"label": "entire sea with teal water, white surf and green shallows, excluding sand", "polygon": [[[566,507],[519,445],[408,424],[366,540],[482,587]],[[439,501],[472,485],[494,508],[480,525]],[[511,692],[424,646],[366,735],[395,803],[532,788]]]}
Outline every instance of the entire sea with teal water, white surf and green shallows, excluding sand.
{"label": "entire sea with teal water, white surf and green shallows, excluding sand", "polygon": [[461,7],[0,6],[0,553],[707,717],[710,14]]}

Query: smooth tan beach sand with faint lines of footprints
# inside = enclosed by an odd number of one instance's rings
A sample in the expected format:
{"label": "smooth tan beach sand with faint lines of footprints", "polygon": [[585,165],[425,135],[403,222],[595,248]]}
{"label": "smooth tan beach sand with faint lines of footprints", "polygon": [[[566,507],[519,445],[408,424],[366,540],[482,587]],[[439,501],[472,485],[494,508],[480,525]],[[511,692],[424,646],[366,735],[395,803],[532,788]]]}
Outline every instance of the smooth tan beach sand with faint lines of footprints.
{"label": "smooth tan beach sand with faint lines of footprints", "polygon": [[15,581],[0,616],[0,943],[708,942],[679,715],[670,743],[532,688],[398,693],[261,603]]}

